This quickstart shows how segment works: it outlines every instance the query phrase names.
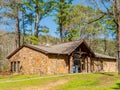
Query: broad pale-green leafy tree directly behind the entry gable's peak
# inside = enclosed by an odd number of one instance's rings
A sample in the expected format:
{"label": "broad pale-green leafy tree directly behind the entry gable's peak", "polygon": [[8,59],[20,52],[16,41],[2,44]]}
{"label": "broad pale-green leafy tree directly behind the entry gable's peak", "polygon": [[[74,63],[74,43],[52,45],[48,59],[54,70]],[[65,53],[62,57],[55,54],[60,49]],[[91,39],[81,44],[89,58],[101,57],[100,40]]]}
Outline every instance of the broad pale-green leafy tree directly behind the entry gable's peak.
{"label": "broad pale-green leafy tree directly behind the entry gable's peak", "polygon": [[73,5],[72,10],[66,16],[67,21],[64,25],[67,38],[69,40],[78,38],[89,39],[90,46],[92,47],[93,39],[101,34],[102,29],[99,22],[92,23],[91,25],[87,24],[89,20],[94,18],[95,14],[96,12],[91,7]]}

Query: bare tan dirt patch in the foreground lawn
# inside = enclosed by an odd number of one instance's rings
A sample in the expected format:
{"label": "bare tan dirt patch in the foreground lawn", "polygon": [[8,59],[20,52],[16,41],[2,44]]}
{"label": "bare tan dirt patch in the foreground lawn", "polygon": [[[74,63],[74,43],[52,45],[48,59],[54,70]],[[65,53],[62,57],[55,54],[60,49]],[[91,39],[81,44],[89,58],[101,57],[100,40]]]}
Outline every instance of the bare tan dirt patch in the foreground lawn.
{"label": "bare tan dirt patch in the foreground lawn", "polygon": [[30,87],[21,88],[20,90],[53,90],[52,88],[55,88],[56,86],[62,85],[67,82],[68,80],[58,80],[58,81],[50,82],[43,86],[30,86]]}

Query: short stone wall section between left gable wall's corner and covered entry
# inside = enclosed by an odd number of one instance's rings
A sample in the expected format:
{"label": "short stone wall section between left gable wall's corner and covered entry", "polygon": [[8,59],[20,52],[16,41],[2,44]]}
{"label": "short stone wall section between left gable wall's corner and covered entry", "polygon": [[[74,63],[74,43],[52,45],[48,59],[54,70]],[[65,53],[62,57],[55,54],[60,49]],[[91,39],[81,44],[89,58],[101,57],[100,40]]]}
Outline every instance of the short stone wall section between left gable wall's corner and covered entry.
{"label": "short stone wall section between left gable wall's corner and covered entry", "polygon": [[67,55],[48,55],[49,57],[49,74],[60,74],[69,72],[68,56]]}

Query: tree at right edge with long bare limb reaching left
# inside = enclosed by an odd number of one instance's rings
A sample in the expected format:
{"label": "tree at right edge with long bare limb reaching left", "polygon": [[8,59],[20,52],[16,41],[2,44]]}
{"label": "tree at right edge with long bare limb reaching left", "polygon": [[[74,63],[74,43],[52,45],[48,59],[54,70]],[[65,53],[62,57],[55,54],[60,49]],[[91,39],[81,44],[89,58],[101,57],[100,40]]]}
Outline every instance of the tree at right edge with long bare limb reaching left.
{"label": "tree at right edge with long bare limb reaching left", "polygon": [[98,21],[104,16],[111,16],[112,21],[116,24],[116,39],[117,39],[117,52],[118,52],[118,75],[120,75],[120,0],[87,0],[92,2],[91,7],[99,10],[99,17],[88,22],[88,24]]}

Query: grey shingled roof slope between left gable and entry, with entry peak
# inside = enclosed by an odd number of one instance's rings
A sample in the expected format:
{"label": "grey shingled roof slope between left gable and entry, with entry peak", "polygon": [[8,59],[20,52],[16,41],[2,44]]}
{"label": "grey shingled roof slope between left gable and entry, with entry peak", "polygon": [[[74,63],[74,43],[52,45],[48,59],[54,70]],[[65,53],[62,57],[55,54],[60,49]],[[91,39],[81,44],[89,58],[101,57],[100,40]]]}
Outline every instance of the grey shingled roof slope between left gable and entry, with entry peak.
{"label": "grey shingled roof slope between left gable and entry, with entry peak", "polygon": [[[29,45],[29,46],[36,47],[38,49],[46,51],[46,53],[71,54],[82,43],[86,44],[86,42],[83,39],[80,39],[77,41],[57,44],[57,45],[53,45],[53,46],[36,46],[36,45]],[[87,46],[87,48],[90,50],[90,48],[88,46]],[[92,50],[90,50],[90,51],[92,52]]]}

